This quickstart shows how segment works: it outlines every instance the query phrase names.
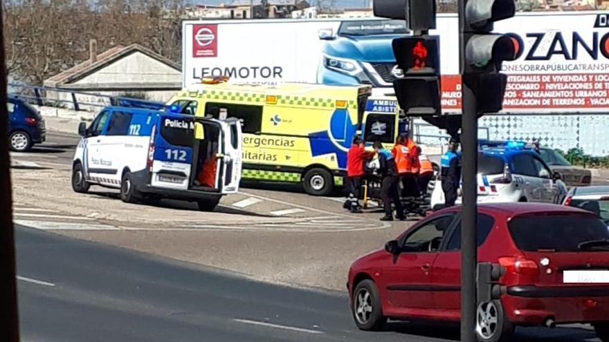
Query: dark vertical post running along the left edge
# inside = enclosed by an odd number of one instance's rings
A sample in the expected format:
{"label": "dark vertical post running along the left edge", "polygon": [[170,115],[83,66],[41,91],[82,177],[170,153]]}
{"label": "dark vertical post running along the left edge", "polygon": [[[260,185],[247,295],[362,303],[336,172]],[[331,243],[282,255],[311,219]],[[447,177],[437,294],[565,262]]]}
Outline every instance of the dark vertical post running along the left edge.
{"label": "dark vertical post running along the left edge", "polygon": [[[0,46],[4,46],[2,7],[0,6]],[[0,50],[0,96],[6,102],[6,68],[4,49]],[[15,278],[15,231],[12,227],[12,190],[6,127],[6,103],[0,106],[0,341],[19,341],[17,316],[17,279]]]}

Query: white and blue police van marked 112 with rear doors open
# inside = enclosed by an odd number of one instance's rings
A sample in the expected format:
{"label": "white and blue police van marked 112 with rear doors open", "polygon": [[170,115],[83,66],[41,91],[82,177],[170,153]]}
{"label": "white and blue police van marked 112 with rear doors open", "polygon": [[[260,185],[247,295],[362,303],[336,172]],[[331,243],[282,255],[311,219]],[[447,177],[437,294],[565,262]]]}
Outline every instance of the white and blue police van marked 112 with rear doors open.
{"label": "white and blue police van marked 112 with rear doors open", "polygon": [[[213,210],[236,193],[242,171],[241,123],[111,106],[87,128],[74,154],[72,188],[120,189],[125,202],[173,198]],[[201,182],[203,180],[203,182]]]}

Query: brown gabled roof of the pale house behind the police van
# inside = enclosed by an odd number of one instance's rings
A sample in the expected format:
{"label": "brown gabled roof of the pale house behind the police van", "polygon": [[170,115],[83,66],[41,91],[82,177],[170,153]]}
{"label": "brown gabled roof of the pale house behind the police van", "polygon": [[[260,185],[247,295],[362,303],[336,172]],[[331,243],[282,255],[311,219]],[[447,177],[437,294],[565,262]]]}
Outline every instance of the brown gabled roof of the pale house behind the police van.
{"label": "brown gabled roof of the pale house behind the police van", "polygon": [[129,46],[115,46],[109,50],[105,50],[103,53],[100,53],[97,56],[97,61],[95,63],[91,63],[91,59],[87,59],[87,61],[83,61],[80,64],[69,68],[68,70],[63,71],[62,73],[58,73],[57,75],[50,77],[44,80],[44,84],[46,86],[61,86],[62,84],[69,84],[71,82],[75,82],[78,79],[81,79],[87,75],[91,75],[95,73],[97,70],[112,64],[114,61],[121,59],[122,57],[126,57],[131,55],[132,53],[143,53],[148,57],[152,57],[161,63],[167,64],[176,70],[181,71],[181,67],[179,64],[175,63],[171,59],[165,58],[158,53],[150,50],[149,48],[145,48],[140,44],[131,44]]}

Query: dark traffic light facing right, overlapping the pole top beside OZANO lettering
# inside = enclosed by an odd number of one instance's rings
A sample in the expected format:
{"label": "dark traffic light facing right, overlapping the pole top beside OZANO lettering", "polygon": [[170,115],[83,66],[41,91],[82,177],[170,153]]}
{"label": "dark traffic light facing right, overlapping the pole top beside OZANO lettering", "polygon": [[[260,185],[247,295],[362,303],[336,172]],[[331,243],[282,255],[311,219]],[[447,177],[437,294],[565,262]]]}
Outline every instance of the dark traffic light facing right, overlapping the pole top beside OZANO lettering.
{"label": "dark traffic light facing right, overlapping the pole top beside OZANO lettering", "polygon": [[502,61],[518,56],[520,44],[509,35],[491,33],[493,23],[513,17],[514,0],[463,0],[460,15],[462,82],[475,95],[477,115],[501,111],[507,76]]}

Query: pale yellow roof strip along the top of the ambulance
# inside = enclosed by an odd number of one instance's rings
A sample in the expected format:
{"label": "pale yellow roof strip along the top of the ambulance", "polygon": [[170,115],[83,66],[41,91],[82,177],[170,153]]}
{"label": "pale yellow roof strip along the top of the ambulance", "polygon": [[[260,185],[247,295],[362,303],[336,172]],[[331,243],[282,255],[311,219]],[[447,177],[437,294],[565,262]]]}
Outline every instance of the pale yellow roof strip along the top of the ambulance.
{"label": "pale yellow roof strip along the top of the ambulance", "polygon": [[283,83],[277,86],[257,86],[252,84],[193,84],[183,91],[219,91],[250,95],[275,95],[287,97],[316,97],[322,99],[349,100],[361,89],[370,91],[370,86],[329,86],[323,84]]}

